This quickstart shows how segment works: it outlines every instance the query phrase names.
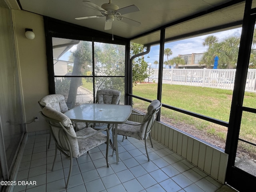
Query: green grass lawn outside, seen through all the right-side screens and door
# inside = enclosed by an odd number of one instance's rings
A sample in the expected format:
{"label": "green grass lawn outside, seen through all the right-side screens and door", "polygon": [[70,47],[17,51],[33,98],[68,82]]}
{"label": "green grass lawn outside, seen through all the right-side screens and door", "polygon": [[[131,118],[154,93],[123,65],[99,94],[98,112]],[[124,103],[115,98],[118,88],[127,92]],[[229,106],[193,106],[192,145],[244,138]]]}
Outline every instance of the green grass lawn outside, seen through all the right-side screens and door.
{"label": "green grass lawn outside, seen through all the right-side screens and door", "polygon": [[[137,84],[133,87],[133,94],[153,100],[157,96],[157,86],[157,84]],[[232,90],[163,84],[162,103],[228,122],[232,94]],[[136,102],[142,101],[136,100]],[[137,106],[140,105],[136,104]],[[245,93],[244,106],[255,108],[255,93]],[[145,108],[145,105],[141,107]],[[166,108],[161,109],[162,116],[170,119],[174,124],[182,122],[200,130],[206,130],[209,134],[214,134],[224,140],[226,139],[227,128],[222,126]],[[240,138],[256,142],[255,124],[256,115],[244,113]]]}

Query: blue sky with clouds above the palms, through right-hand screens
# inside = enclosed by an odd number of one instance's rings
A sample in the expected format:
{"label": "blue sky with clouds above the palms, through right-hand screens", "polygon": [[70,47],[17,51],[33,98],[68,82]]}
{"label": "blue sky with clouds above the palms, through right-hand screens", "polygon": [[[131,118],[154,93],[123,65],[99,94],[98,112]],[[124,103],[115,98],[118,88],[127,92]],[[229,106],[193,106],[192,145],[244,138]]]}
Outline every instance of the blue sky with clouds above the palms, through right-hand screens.
{"label": "blue sky with clouds above the palms, through right-hand screens", "polygon": [[[214,35],[219,40],[222,40],[229,36],[241,36],[241,30],[242,28],[236,28],[236,29],[227,30],[223,32],[217,32],[213,34],[170,42],[170,43],[166,43],[164,48],[170,48],[172,50],[172,55],[169,56],[169,60],[178,56],[179,54],[185,55],[185,54],[192,54],[192,53],[203,53],[207,50],[207,47],[204,47],[202,45],[202,42],[204,42],[204,39],[207,36]],[[152,66],[151,66],[152,68],[156,68],[156,67],[158,68],[158,66],[154,64],[154,61],[159,62],[159,45],[152,46],[150,49],[150,53],[144,55],[144,60],[148,63],[152,63]],[[164,61],[166,60],[167,60],[167,57],[164,56]]]}

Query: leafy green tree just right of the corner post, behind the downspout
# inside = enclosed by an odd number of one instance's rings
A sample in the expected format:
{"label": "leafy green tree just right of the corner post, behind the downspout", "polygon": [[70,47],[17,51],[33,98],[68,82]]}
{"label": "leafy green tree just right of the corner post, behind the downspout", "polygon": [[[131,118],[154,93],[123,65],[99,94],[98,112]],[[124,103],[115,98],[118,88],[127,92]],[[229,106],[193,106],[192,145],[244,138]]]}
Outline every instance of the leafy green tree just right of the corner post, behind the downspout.
{"label": "leafy green tree just right of the corner post, behind the downspout", "polygon": [[[131,51],[130,56],[137,55],[139,53],[144,52],[144,45],[131,43]],[[136,84],[137,82],[143,82],[146,78],[148,78],[147,73],[148,64],[144,61],[144,57],[134,58],[132,61],[132,83]]]}

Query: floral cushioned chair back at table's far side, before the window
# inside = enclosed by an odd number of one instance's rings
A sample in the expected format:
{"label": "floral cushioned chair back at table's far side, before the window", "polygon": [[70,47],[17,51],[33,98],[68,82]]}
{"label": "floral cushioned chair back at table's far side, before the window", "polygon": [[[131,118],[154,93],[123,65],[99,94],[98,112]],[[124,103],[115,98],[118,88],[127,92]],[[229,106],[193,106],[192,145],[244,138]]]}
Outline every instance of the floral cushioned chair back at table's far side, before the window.
{"label": "floral cushioned chair back at table's far side, before the window", "polygon": [[102,89],[97,91],[96,103],[119,104],[121,92],[112,89]]}

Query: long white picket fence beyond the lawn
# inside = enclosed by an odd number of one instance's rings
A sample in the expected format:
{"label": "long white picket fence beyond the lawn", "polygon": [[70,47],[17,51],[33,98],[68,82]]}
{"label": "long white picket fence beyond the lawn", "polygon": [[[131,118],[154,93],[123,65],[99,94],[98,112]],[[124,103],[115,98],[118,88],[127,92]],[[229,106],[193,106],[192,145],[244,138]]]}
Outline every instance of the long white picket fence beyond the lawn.
{"label": "long white picket fence beyond the lawn", "polygon": [[[163,83],[233,90],[236,69],[164,69]],[[158,82],[158,69],[148,78]],[[245,91],[256,92],[256,69],[248,69]]]}

